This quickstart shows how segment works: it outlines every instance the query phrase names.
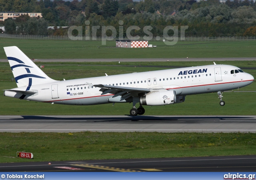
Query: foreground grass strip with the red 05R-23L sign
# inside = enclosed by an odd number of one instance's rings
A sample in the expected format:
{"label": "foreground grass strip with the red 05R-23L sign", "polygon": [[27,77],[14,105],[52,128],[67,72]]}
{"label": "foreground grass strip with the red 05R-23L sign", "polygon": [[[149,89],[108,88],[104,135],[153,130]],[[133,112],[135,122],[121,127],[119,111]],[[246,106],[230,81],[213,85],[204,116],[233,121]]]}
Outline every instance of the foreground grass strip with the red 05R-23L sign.
{"label": "foreground grass strip with the red 05R-23L sign", "polygon": [[[0,162],[232,156],[256,153],[255,133],[0,133]],[[17,151],[34,159],[13,158]]]}

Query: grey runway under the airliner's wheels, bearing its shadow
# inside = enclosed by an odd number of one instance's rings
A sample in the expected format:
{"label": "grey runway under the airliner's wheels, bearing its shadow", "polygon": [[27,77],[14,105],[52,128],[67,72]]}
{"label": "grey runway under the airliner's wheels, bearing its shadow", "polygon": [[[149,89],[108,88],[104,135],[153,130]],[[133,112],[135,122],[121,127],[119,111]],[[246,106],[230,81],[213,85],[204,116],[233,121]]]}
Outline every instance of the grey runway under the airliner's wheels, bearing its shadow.
{"label": "grey runway under the airliner's wheels, bearing its shadow", "polygon": [[256,116],[0,116],[0,132],[256,132]]}

